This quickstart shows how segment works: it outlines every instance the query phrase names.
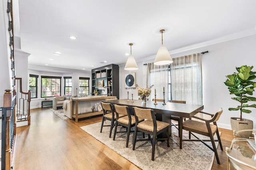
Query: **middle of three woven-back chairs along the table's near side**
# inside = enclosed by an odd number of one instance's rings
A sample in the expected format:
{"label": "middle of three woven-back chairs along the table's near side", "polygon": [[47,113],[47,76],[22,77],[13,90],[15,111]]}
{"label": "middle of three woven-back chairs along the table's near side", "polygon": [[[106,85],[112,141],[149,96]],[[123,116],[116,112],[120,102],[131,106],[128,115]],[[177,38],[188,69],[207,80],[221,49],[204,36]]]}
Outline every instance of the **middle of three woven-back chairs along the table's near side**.
{"label": "middle of three woven-back chairs along the table's near side", "polygon": [[[114,130],[114,137],[113,140],[116,138],[116,133],[127,133],[126,137],[126,148],[128,148],[130,133],[134,132],[131,131],[131,127],[135,125],[135,117],[134,115],[130,114],[128,106],[120,106],[114,104],[114,110],[116,112],[116,125]],[[144,121],[144,119],[139,119],[139,122]],[[126,131],[117,131],[118,125],[126,127]]]}

